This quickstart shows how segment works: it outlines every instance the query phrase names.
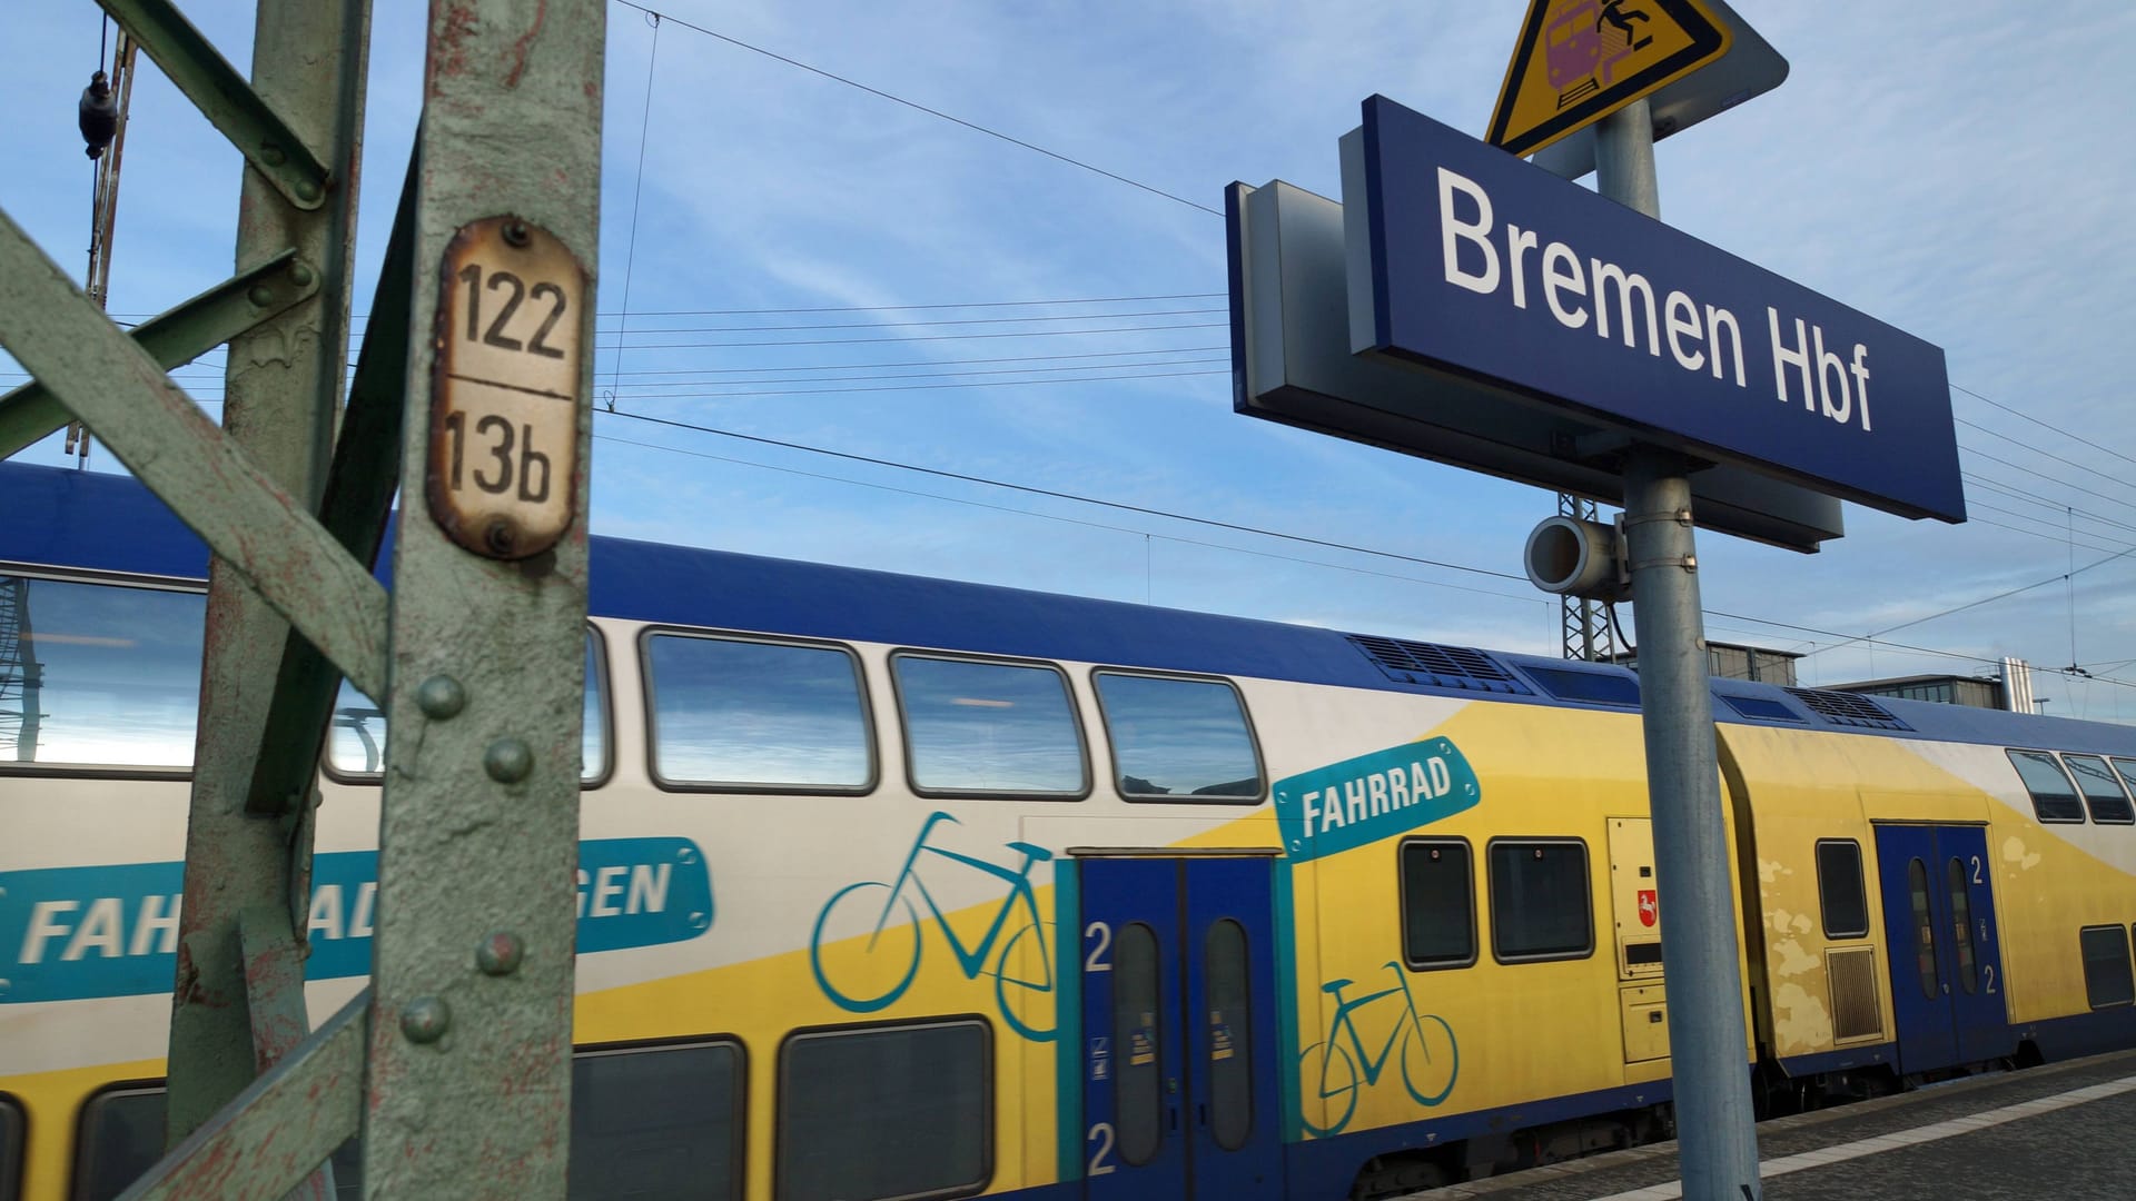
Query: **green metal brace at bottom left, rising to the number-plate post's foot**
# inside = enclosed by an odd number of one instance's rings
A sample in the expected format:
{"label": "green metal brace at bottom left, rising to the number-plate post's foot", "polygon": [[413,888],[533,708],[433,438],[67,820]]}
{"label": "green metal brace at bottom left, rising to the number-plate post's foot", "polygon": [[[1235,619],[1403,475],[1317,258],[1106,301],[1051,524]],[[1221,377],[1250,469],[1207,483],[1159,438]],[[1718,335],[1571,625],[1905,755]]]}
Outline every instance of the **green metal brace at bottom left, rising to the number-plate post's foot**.
{"label": "green metal brace at bottom left, rising to the number-plate post's foot", "polygon": [[120,1201],[276,1201],[363,1122],[370,989],[137,1180]]}

